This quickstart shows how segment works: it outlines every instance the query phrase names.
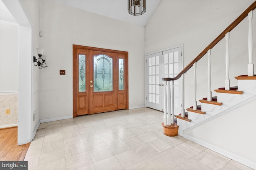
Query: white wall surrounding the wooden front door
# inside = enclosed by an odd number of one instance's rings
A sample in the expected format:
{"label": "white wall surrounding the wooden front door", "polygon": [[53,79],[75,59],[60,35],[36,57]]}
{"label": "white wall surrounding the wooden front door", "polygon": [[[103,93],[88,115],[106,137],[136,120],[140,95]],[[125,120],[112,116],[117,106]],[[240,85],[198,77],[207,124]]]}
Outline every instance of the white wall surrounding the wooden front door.
{"label": "white wall surrounding the wooden front door", "polygon": [[[72,116],[72,45],[128,51],[129,107],[145,106],[144,27],[41,0],[40,119]],[[66,70],[66,75],[59,75]]]}

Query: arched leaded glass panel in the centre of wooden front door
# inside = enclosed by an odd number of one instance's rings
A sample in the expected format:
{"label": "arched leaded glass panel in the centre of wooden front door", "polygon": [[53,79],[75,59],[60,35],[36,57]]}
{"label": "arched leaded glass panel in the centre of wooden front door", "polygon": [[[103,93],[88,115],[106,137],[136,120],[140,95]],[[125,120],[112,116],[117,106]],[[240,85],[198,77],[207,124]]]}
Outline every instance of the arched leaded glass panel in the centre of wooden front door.
{"label": "arched leaded glass panel in the centre of wooden front door", "polygon": [[112,91],[113,60],[107,55],[94,56],[94,92]]}

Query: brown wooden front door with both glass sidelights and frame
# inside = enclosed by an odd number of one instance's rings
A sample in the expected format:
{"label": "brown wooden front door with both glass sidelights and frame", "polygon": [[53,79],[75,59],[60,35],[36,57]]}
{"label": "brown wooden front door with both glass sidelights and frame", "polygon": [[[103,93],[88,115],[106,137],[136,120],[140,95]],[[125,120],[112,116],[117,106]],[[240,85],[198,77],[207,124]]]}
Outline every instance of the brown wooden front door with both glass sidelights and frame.
{"label": "brown wooden front door with both glass sidelights and frame", "polygon": [[128,52],[73,45],[73,117],[128,109]]}

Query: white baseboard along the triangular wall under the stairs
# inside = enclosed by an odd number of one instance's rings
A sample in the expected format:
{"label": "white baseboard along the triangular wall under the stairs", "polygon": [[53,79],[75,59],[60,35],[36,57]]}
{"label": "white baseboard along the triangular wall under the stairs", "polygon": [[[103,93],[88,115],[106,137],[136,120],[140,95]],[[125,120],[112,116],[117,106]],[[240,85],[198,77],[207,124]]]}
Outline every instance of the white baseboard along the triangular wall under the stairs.
{"label": "white baseboard along the triangular wall under the stairs", "polygon": [[228,157],[228,158],[230,158],[232,160],[235,160],[236,162],[244,164],[245,166],[248,166],[248,167],[250,167],[252,169],[256,169],[256,162],[252,162],[250,160],[247,160],[247,159],[245,159],[245,158],[243,158],[243,157],[241,157],[241,156],[239,156],[237,154],[228,152],[227,150],[221,149],[221,148],[216,147],[214,145],[211,145],[211,144],[209,144],[207,142],[201,141],[200,139],[197,139],[197,138],[192,137],[190,135],[187,135],[185,133],[183,134],[183,137],[188,139],[188,140],[190,140],[190,141],[193,141],[193,142],[195,142],[195,143],[197,143],[199,145],[202,145],[203,147],[206,147],[206,148],[208,148],[210,150],[213,150],[214,152],[222,154],[223,156],[226,156],[226,157]]}

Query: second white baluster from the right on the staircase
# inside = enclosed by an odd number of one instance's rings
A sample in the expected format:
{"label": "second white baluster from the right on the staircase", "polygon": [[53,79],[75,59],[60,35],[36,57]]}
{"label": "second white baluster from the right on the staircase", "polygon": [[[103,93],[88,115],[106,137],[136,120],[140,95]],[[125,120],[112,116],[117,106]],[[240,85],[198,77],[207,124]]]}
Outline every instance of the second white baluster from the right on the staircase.
{"label": "second white baluster from the right on the staircase", "polygon": [[225,35],[226,39],[226,80],[225,80],[225,90],[230,90],[230,80],[229,80],[229,32]]}

